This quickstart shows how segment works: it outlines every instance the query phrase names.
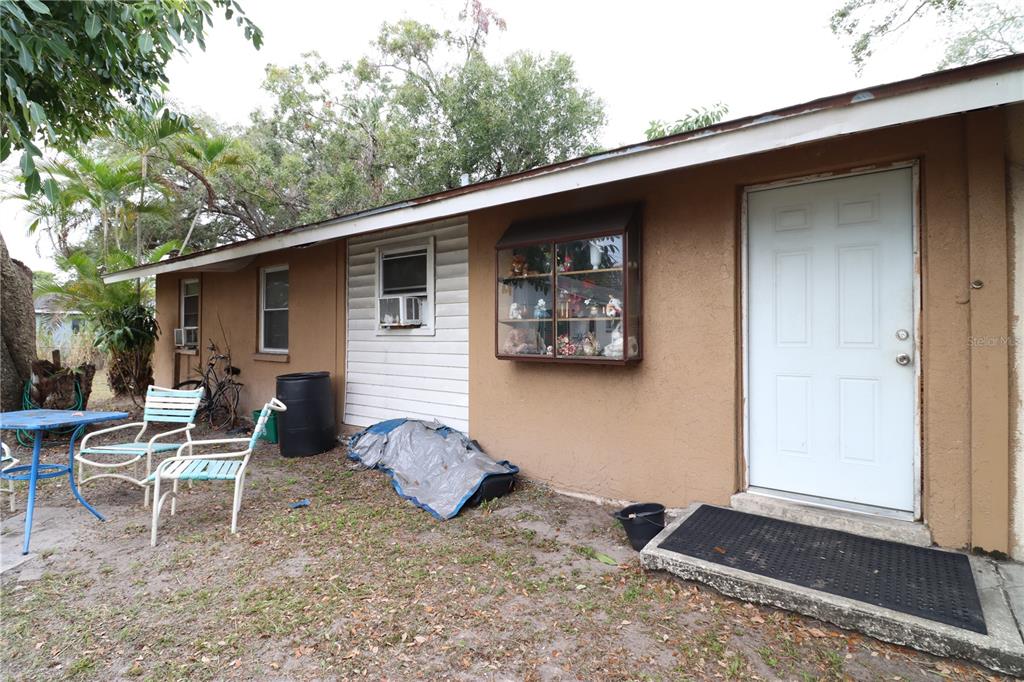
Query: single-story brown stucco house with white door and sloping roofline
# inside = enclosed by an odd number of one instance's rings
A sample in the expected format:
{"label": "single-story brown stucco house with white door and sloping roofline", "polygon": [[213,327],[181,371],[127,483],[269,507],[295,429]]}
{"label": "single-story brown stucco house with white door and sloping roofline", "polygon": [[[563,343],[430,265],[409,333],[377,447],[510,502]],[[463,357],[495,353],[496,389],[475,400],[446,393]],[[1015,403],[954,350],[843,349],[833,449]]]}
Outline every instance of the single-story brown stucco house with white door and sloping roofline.
{"label": "single-story brown stucco house with white door and sloping roofline", "polygon": [[1022,162],[1017,55],[105,280],[156,275],[159,384],[195,327],[247,409],[328,370],[339,425],[438,419],[558,488],[1024,558]]}

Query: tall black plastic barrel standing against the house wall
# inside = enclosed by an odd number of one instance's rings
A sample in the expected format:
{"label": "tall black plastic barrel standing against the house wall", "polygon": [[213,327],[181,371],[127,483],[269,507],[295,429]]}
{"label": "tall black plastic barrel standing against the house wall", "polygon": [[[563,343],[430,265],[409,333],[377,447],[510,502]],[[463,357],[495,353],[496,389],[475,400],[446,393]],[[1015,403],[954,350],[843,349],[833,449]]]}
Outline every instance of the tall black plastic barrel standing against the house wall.
{"label": "tall black plastic barrel standing against the house wall", "polygon": [[326,453],[335,445],[334,396],[331,374],[299,372],[278,377],[278,438],[285,457]]}

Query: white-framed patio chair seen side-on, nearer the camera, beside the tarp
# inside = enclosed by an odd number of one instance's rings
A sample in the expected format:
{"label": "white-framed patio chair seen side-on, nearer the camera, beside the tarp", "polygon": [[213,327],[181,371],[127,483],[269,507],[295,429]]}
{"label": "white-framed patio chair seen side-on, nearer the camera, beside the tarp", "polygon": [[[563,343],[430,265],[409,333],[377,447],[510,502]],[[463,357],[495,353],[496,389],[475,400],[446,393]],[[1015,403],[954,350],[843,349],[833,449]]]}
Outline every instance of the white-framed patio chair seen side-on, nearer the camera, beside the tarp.
{"label": "white-framed patio chair seen side-on, nearer the camera, beside the tarp", "polygon": [[[171,498],[171,515],[173,516],[177,506],[178,481],[196,480],[223,480],[234,481],[234,498],[231,501],[231,532],[239,529],[239,510],[242,508],[242,494],[246,486],[246,465],[249,458],[256,449],[256,440],[266,430],[266,422],[270,419],[270,412],[285,412],[288,408],[278,398],[270,398],[270,401],[263,406],[263,410],[256,420],[253,434],[249,438],[218,438],[215,440],[193,440],[178,447],[174,457],[164,460],[157,466],[148,480],[153,482],[153,529],[150,536],[150,544],[157,546],[157,528],[160,523],[160,510],[164,506],[167,497]],[[245,450],[212,453],[208,455],[182,455],[188,447],[203,449],[210,445],[227,445],[245,443]],[[171,489],[161,494],[161,483],[172,481]]]}

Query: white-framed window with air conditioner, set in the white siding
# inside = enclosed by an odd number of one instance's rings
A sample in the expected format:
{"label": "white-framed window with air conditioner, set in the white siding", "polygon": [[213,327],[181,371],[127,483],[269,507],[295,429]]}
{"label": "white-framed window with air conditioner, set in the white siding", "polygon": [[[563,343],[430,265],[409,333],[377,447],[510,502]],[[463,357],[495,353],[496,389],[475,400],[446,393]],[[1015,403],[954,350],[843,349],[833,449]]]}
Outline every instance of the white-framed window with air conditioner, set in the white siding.
{"label": "white-framed window with air conditioner, set in the white siding", "polygon": [[403,243],[377,250],[377,326],[382,332],[433,327],[434,245]]}

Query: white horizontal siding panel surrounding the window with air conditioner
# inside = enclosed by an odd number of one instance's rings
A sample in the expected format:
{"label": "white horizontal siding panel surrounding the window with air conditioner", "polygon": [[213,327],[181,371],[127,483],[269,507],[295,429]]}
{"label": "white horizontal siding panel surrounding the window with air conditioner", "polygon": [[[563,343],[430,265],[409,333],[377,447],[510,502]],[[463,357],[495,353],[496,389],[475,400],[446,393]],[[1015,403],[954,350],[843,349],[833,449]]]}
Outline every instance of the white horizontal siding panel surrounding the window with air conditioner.
{"label": "white horizontal siding panel surrounding the window with air conditioner", "polygon": [[[377,325],[378,254],[433,239],[433,326]],[[469,232],[464,221],[403,227],[348,241],[345,423],[436,419],[469,430]],[[416,334],[415,332],[419,332]]]}

